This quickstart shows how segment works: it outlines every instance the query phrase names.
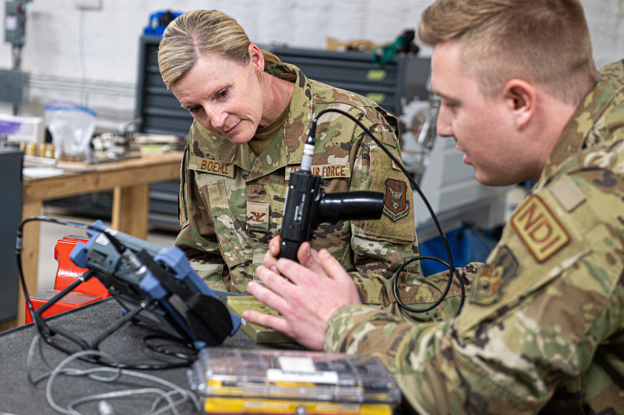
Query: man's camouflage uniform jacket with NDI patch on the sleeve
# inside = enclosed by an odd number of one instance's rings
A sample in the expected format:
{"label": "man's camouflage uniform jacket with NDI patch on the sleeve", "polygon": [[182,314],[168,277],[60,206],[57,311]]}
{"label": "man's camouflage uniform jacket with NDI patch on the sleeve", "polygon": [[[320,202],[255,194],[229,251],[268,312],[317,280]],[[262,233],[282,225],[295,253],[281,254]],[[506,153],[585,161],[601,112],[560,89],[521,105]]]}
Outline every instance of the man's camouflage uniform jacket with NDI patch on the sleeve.
{"label": "man's camouflage uniform jacket with NDI patch on the sleeve", "polygon": [[600,73],[461,315],[344,307],[325,350],[378,355],[421,414],[624,413],[624,61]]}

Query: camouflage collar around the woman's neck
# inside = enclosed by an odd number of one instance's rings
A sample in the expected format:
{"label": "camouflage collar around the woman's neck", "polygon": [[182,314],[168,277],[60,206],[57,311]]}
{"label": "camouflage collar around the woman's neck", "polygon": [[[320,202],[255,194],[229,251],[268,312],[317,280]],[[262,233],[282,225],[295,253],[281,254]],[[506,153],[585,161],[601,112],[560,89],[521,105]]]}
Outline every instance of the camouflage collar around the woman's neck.
{"label": "camouflage collar around the woman's neck", "polygon": [[312,120],[312,85],[303,72],[295,65],[284,63],[269,65],[266,72],[280,79],[295,80],[283,140],[273,140],[260,156],[256,156],[247,143],[233,145],[222,137],[215,154],[217,160],[233,163],[249,171],[247,181],[266,176],[284,166],[301,163],[303,137]]}

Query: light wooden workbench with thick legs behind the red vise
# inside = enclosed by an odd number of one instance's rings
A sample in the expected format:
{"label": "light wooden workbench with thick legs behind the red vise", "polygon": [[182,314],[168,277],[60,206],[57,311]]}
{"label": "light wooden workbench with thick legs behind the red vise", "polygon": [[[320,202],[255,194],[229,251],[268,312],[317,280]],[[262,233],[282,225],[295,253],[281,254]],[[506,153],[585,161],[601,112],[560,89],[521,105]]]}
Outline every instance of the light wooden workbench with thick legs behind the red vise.
{"label": "light wooden workbench with thick legs behind the red vise", "polygon": [[[118,231],[145,239],[149,215],[150,183],[180,178],[182,151],[155,151],[140,158],[112,161],[84,167],[82,171],[67,171],[49,178],[24,178],[22,192],[22,219],[41,215],[43,202],[67,198],[77,194],[113,189],[112,227]],[[71,163],[59,168],[76,168]],[[39,258],[39,224],[30,222],[24,227],[22,264],[26,287],[30,295],[37,293]],[[71,233],[71,229],[67,229]],[[19,287],[17,321],[0,325],[0,330],[24,324],[26,298]]]}

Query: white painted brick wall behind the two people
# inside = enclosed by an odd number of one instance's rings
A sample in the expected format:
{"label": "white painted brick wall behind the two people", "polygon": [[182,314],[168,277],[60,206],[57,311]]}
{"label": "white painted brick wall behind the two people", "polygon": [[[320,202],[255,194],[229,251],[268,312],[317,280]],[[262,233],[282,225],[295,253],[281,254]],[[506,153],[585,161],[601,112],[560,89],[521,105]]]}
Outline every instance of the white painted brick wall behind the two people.
{"label": "white painted brick wall behind the two people", "polygon": [[[162,9],[218,9],[240,22],[258,43],[322,48],[325,37],[388,42],[416,27],[432,0],[102,0],[102,9],[84,11],[85,77],[135,82],[137,45],[150,13]],[[582,0],[599,66],[624,58],[624,0]],[[80,78],[79,14],[74,0],[34,0],[27,5],[27,39],[22,68],[35,74]],[[4,33],[4,19],[0,31]],[[428,51],[425,50],[425,53]],[[0,67],[11,66],[8,44],[0,44]],[[31,88],[28,99],[47,103],[80,95]],[[89,105],[131,117],[129,97],[92,95]],[[39,108],[39,107],[37,107]],[[121,114],[121,115],[119,115]],[[110,118],[115,118],[111,115]]]}

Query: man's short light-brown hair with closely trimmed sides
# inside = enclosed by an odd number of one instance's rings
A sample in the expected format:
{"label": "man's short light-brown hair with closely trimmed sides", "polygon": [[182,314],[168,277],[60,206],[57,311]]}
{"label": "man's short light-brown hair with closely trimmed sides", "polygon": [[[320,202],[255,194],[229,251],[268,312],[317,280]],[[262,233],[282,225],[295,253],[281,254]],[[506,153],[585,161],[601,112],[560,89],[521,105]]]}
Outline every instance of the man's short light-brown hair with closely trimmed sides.
{"label": "man's short light-brown hair with closely trimmed sides", "polygon": [[520,78],[577,105],[600,80],[578,0],[437,0],[418,36],[429,45],[459,41],[485,95]]}

